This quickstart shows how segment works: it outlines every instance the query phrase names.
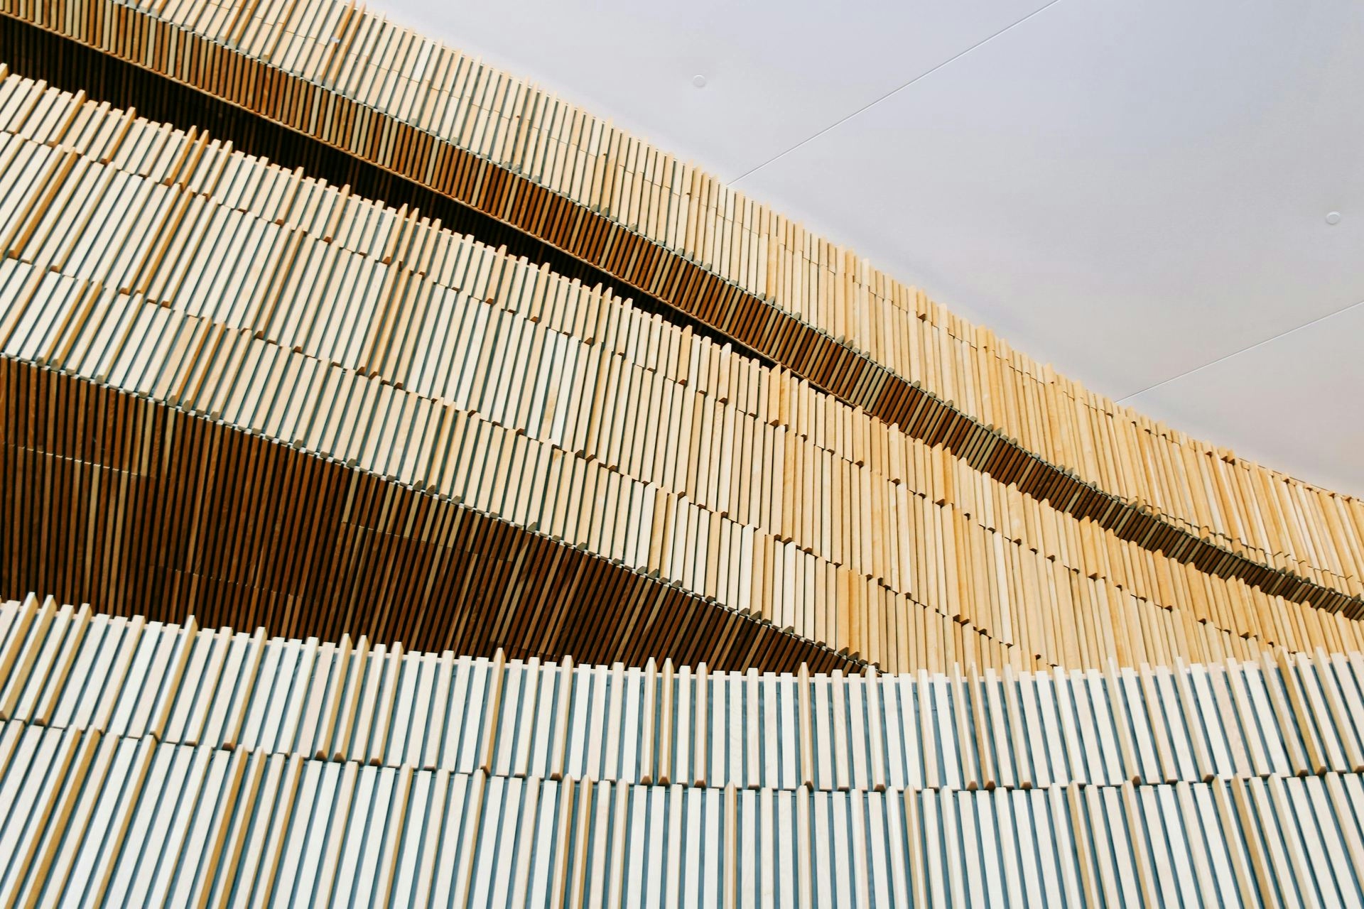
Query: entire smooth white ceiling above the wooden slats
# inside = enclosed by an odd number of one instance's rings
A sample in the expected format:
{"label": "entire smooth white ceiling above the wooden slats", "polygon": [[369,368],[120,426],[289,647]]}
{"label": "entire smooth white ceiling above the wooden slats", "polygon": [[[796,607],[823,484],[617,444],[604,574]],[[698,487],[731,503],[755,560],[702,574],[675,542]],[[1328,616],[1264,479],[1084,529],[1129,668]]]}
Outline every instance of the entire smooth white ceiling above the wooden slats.
{"label": "entire smooth white ceiling above the wooden slats", "polygon": [[1123,403],[1364,495],[1359,0],[374,5]]}

